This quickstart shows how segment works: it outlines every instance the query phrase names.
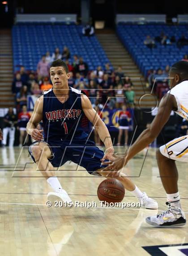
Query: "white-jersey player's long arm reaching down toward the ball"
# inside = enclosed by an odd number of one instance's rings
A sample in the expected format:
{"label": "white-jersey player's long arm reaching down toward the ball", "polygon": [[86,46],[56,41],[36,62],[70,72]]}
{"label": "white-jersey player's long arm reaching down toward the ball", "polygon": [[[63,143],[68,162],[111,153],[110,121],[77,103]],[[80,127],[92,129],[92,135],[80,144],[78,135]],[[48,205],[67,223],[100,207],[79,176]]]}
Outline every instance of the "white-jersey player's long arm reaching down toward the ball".
{"label": "white-jersey player's long arm reaching down toward the ball", "polygon": [[[120,170],[132,157],[152,143],[168,121],[172,110],[177,110],[175,97],[171,94],[166,94],[159,104],[158,113],[152,121],[150,127],[141,133],[134,144],[132,144],[132,146],[128,149],[125,157],[115,157],[113,162],[108,162],[108,166],[104,170],[107,171],[110,170],[110,168],[111,170]],[[106,164],[107,163],[105,163],[105,165]]]}

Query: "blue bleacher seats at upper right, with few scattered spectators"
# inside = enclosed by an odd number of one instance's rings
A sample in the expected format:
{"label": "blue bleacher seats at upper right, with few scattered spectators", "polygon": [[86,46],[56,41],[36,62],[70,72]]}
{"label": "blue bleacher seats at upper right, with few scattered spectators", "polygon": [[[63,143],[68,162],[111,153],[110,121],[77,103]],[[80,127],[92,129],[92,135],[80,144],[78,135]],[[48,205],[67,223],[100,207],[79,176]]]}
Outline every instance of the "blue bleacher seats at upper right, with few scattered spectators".
{"label": "blue bleacher seats at upper right, with few scattered spectators", "polygon": [[157,43],[157,47],[154,49],[149,49],[144,45],[147,35],[155,38],[156,36],[160,36],[162,31],[169,38],[175,36],[176,41],[182,34],[188,37],[188,25],[119,24],[116,27],[116,31],[144,76],[147,75],[148,70],[151,68],[158,69],[161,67],[164,69],[167,65],[181,60],[184,54],[188,54],[188,45],[181,49],[177,48],[176,43],[167,46]]}

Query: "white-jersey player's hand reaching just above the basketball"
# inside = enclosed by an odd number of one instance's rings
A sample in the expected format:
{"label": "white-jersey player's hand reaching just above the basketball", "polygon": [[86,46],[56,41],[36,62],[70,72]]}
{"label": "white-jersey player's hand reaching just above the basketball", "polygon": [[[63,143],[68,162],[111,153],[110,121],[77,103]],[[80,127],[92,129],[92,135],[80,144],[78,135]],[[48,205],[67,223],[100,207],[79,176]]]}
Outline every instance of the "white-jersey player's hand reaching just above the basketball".
{"label": "white-jersey player's hand reaching just above the basketball", "polygon": [[103,171],[117,172],[127,164],[126,158],[124,157],[119,157],[114,155],[113,158],[114,159],[112,161],[102,163],[102,165],[105,165],[105,166],[107,165],[107,167],[105,167]]}

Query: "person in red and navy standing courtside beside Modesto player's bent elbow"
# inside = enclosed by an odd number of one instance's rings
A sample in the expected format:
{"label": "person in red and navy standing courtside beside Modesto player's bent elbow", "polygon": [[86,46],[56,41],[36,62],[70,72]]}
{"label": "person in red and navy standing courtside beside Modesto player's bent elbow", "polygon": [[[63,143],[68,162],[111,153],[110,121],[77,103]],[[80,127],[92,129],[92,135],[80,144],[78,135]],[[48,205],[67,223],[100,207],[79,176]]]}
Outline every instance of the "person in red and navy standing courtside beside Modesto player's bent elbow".
{"label": "person in red and navy standing courtside beside Modesto player's bent elbow", "polygon": [[22,106],[22,112],[18,114],[18,130],[20,130],[20,144],[19,146],[22,147],[24,139],[26,137],[26,143],[28,143],[28,136],[26,133],[26,126],[28,121],[30,120],[30,114],[27,112],[26,105]]}

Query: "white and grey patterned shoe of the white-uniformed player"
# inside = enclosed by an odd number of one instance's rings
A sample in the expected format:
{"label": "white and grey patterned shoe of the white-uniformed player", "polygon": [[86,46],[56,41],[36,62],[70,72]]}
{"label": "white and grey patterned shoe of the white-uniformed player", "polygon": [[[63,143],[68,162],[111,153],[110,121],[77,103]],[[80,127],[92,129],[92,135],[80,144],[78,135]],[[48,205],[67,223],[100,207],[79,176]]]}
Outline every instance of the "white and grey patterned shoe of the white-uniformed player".
{"label": "white and grey patterned shoe of the white-uniformed player", "polygon": [[171,206],[170,202],[166,202],[168,211],[151,217],[147,217],[145,221],[157,228],[180,227],[186,224],[184,212],[178,208]]}

